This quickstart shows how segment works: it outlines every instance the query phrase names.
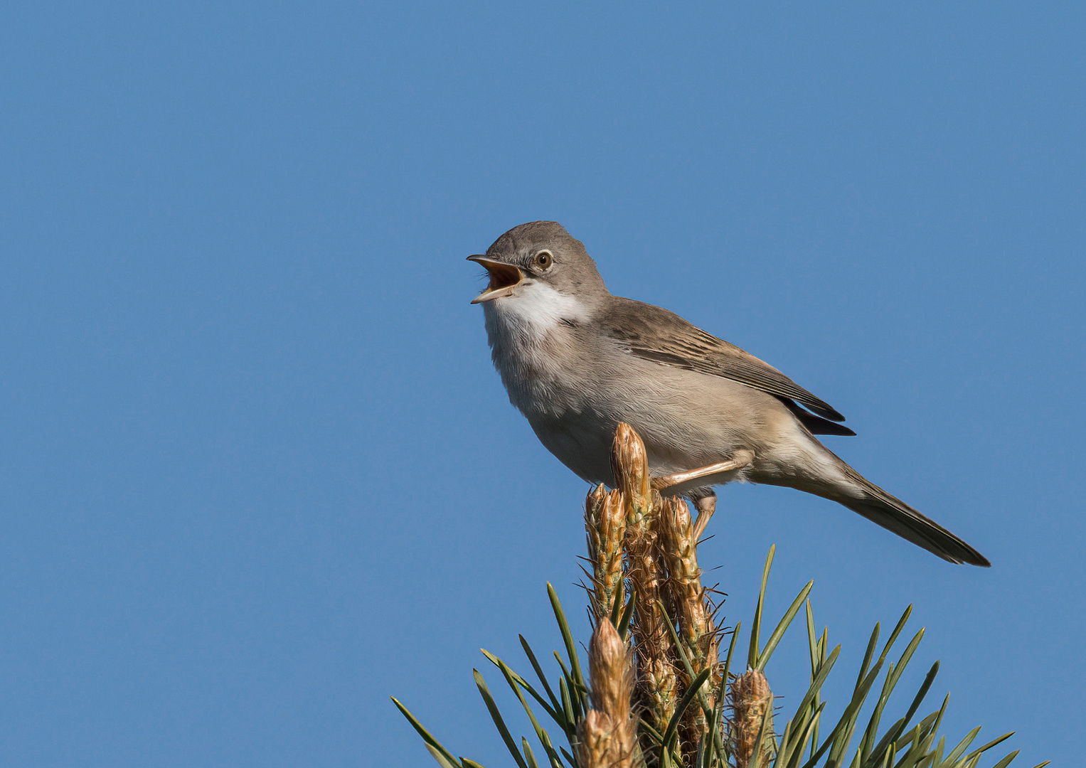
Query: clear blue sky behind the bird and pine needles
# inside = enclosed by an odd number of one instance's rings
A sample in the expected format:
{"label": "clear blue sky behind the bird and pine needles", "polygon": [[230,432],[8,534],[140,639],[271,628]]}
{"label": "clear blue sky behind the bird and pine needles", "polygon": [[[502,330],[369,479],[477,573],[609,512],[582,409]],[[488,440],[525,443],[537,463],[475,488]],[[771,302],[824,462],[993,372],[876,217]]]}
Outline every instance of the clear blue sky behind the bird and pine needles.
{"label": "clear blue sky behind the bird and pine needles", "polygon": [[994,564],[728,488],[729,622],[775,543],[834,691],[912,602],[952,736],[1079,763],[1084,40],[1070,2],[7,7],[0,763],[429,765],[395,694],[507,764],[478,649],[554,647],[547,580],[586,629],[586,488],[468,304],[538,218]]}

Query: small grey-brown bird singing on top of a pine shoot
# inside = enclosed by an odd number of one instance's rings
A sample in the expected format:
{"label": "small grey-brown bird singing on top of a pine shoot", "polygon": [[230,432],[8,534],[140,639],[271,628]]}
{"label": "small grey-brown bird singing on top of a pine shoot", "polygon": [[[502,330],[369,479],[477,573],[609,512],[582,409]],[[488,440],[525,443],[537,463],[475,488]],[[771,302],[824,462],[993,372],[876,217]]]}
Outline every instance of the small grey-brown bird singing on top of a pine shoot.
{"label": "small grey-brown bird singing on top of a pine shoot", "polygon": [[716,504],[712,486],[787,486],[839,502],[943,559],[990,565],[816,439],[855,435],[837,424],[845,420],[837,411],[682,317],[611,295],[584,245],[557,222],[521,224],[468,259],[490,275],[472,303],[483,305],[509,401],[581,478],[614,486],[610,444],[626,421],[662,478],[656,487],[690,496],[704,520]]}

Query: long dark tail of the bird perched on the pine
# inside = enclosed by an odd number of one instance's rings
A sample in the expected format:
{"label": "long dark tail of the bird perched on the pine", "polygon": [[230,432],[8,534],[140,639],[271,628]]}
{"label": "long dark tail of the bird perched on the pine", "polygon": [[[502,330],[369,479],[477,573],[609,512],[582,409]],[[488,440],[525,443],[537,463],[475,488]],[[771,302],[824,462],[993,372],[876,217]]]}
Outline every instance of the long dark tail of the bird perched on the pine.
{"label": "long dark tail of the bird perched on the pine", "polygon": [[857,498],[830,489],[825,489],[826,492],[815,491],[818,495],[824,495],[826,499],[844,504],[853,512],[863,515],[872,523],[894,531],[902,539],[908,539],[913,544],[924,547],[945,561],[968,563],[985,568],[992,565],[987,557],[935,520],[924,517],[900,499],[892,496],[844,462],[841,464],[848,478],[862,489],[862,495]]}

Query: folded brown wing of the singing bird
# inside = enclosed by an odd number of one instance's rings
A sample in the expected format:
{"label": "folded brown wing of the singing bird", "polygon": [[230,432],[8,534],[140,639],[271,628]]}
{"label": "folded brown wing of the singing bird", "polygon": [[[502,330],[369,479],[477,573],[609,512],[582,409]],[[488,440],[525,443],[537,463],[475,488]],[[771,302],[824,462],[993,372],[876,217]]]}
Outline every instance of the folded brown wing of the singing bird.
{"label": "folded brown wing of the singing bird", "polygon": [[632,354],[661,365],[720,376],[760,389],[779,398],[803,403],[819,416],[844,421],[829,403],[797,385],[780,370],[763,363],[700,328],[673,312],[631,299],[614,297],[617,302],[603,318],[607,335]]}

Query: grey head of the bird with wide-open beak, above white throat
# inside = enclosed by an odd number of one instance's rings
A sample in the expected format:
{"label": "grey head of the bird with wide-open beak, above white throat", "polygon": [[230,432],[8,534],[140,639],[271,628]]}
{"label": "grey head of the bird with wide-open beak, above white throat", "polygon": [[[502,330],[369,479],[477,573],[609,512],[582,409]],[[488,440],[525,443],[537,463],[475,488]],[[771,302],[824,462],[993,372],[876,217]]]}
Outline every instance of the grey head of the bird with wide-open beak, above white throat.
{"label": "grey head of the bird with wide-open beak, above white throat", "polygon": [[576,297],[588,307],[610,295],[583,243],[557,222],[521,224],[497,238],[485,254],[468,260],[490,274],[490,285],[472,304],[518,297],[532,286]]}

